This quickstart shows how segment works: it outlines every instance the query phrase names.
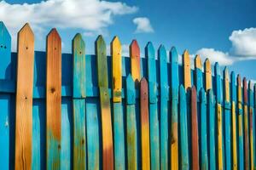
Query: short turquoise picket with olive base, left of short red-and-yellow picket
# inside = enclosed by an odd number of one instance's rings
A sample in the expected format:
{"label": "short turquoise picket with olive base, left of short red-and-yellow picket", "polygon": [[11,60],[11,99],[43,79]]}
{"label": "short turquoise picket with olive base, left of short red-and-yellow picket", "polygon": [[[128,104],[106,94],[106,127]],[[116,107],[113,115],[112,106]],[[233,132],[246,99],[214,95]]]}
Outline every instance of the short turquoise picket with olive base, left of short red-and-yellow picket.
{"label": "short turquoise picket with olive base, left of short red-and-yellow picket", "polygon": [[126,78],[126,144],[127,169],[138,169],[137,116],[135,82],[131,74]]}

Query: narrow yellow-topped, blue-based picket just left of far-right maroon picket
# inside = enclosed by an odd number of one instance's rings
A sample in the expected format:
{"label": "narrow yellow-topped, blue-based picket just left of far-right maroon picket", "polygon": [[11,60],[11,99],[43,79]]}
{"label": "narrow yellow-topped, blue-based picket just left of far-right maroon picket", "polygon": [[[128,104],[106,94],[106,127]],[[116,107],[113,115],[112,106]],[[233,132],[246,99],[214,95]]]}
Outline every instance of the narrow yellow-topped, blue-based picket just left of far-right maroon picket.
{"label": "narrow yellow-topped, blue-based picket just left of far-right maroon picket", "polygon": [[244,169],[244,153],[243,153],[243,111],[241,103],[241,77],[237,76],[237,107],[238,107],[238,169]]}

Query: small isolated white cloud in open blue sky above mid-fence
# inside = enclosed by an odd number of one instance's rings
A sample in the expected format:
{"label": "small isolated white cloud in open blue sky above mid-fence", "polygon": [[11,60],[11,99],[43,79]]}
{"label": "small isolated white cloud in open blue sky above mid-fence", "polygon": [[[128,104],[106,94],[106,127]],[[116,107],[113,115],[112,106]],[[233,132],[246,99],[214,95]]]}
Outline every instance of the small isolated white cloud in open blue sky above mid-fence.
{"label": "small isolated white cloud in open blue sky above mid-fence", "polygon": [[137,25],[136,33],[149,33],[154,32],[153,27],[150,24],[150,20],[146,17],[138,17],[132,20],[132,22]]}

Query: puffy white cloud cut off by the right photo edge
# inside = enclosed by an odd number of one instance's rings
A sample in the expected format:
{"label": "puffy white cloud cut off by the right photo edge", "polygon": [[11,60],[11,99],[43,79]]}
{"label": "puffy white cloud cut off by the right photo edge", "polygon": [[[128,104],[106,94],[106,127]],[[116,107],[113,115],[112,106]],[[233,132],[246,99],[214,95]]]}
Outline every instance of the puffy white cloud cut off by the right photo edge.
{"label": "puffy white cloud cut off by the right photo edge", "polygon": [[230,36],[232,54],[241,57],[256,57],[256,28],[233,31]]}

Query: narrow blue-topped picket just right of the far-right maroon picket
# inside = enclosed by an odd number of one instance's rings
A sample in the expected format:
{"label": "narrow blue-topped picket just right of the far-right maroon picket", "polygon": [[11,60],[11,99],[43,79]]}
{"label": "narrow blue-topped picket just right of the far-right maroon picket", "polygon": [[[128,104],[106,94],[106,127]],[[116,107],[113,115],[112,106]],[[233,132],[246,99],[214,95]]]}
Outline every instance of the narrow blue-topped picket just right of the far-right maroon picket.
{"label": "narrow blue-topped picket just right of the far-right maroon picket", "polygon": [[248,115],[248,124],[249,124],[249,147],[250,147],[250,167],[251,170],[254,168],[254,160],[253,160],[253,155],[254,155],[254,150],[253,150],[253,84],[252,81],[249,81],[248,84],[248,94],[249,94],[249,115]]}

